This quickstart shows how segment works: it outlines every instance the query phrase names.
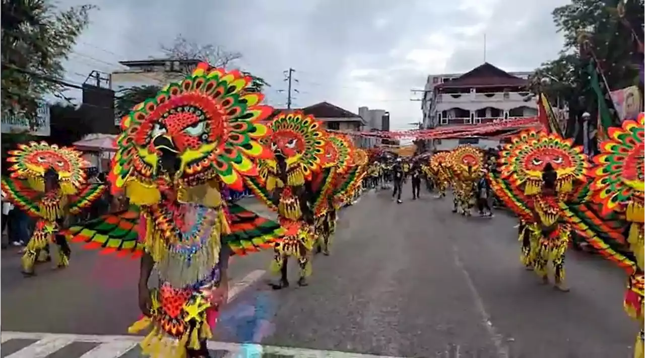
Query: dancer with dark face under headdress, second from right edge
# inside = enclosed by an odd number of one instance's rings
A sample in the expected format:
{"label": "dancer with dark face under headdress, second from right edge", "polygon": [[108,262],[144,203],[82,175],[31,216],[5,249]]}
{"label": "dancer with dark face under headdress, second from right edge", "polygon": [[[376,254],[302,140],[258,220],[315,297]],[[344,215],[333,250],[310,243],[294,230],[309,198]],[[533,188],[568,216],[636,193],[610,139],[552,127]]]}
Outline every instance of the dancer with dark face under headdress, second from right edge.
{"label": "dancer with dark face under headdress, second from right edge", "polygon": [[581,148],[571,144],[557,134],[524,131],[506,144],[499,159],[501,173],[491,180],[495,193],[530,230],[530,248],[522,233],[522,262],[533,264],[542,283],[549,283],[551,261],[554,286],[562,292],[569,290],[564,254],[571,230],[578,230],[580,221],[572,219],[566,203],[573,200],[574,186],[586,183],[590,167]]}

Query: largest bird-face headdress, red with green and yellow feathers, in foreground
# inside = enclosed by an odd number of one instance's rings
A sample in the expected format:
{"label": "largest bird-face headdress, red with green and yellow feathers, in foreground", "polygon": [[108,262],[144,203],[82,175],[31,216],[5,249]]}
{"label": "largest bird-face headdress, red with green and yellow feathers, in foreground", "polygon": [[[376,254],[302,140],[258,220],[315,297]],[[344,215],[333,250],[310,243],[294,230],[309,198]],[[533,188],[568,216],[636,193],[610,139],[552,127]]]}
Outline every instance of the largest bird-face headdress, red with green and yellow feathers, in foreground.
{"label": "largest bird-face headdress, red with green and yellow feathers, in foreground", "polygon": [[252,158],[271,155],[257,140],[267,134],[259,121],[272,108],[259,104],[263,94],[246,92],[252,81],[201,63],[181,83],[135,106],[121,122],[112,190],[125,188],[134,204],[157,203],[167,185],[217,190],[216,178],[241,190],[242,175],[257,175]]}

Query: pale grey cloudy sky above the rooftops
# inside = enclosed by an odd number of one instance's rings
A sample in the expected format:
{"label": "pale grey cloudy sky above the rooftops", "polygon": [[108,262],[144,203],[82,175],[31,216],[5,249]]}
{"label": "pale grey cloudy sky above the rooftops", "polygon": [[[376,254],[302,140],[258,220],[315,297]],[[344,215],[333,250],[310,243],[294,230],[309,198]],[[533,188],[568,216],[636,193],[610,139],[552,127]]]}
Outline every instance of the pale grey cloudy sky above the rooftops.
{"label": "pale grey cloudy sky above the rooftops", "polygon": [[[160,43],[192,41],[241,52],[235,65],[266,79],[268,103],[286,103],[283,71],[299,82],[295,106],[328,101],[390,111],[393,129],[421,121],[411,89],[429,74],[466,72],[484,61],[533,70],[557,56],[551,11],[567,0],[59,0],[99,6],[68,64],[82,83],[91,70],[123,69]],[[70,92],[70,95],[72,93]]]}

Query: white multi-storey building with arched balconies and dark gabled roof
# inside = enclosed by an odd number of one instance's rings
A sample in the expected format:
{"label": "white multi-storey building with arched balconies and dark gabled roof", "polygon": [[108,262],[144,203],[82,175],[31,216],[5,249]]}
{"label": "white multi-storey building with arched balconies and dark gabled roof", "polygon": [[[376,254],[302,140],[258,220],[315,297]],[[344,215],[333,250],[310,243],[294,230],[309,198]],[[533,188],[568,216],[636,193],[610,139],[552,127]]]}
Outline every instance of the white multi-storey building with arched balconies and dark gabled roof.
{"label": "white multi-storey building with arched balconies and dark gabled roof", "polygon": [[[537,103],[528,91],[532,72],[504,72],[490,63],[466,74],[429,75],[421,104],[424,128],[477,125],[497,119],[534,117]],[[497,146],[484,138],[436,139],[432,147],[447,150],[459,144]]]}

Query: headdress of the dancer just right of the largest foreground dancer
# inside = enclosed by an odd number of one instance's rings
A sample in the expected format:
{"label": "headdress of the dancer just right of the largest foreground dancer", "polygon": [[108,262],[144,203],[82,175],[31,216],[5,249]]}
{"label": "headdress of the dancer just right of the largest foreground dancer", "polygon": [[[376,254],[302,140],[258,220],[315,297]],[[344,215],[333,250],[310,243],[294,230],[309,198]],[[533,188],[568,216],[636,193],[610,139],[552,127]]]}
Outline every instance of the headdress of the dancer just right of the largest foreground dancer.
{"label": "headdress of the dancer just right of the largest foreground dancer", "polygon": [[[282,112],[270,124],[271,134],[263,140],[273,154],[283,155],[287,166],[288,185],[301,185],[310,180],[312,171],[317,171],[324,163],[325,134],[319,121],[312,115],[301,111]],[[275,159],[261,163],[263,177],[268,179],[267,189],[272,190],[274,179],[266,178],[267,170],[275,171]]]}

